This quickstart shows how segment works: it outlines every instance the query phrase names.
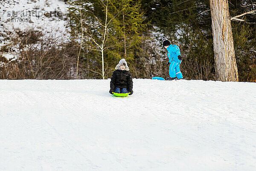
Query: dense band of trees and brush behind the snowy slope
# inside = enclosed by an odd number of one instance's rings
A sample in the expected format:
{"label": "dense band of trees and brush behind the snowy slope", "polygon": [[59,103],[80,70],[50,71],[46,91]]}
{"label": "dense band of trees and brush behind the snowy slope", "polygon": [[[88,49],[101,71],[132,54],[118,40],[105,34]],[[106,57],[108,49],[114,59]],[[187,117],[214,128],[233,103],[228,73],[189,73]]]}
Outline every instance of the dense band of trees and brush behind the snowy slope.
{"label": "dense band of trees and brush behind the snowy slope", "polygon": [[[180,47],[184,78],[216,80],[209,0],[65,1],[68,41],[32,29],[12,33],[0,52],[15,45],[19,57],[0,56],[0,78],[110,78],[122,58],[133,78],[168,77],[162,42],[169,39]],[[231,17],[256,9],[253,0],[228,2]],[[256,82],[256,14],[241,19],[231,22],[239,81]]]}

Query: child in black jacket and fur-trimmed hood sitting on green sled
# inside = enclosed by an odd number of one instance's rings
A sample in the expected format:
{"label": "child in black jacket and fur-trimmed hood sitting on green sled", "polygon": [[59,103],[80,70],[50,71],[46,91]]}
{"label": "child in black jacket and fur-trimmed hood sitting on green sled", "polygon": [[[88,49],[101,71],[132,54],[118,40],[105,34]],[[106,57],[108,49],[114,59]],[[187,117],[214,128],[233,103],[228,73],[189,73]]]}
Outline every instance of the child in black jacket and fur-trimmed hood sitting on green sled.
{"label": "child in black jacket and fur-trimmed hood sitting on green sled", "polygon": [[110,81],[109,93],[130,93],[132,95],[132,77],[125,59],[121,59],[116,65]]}

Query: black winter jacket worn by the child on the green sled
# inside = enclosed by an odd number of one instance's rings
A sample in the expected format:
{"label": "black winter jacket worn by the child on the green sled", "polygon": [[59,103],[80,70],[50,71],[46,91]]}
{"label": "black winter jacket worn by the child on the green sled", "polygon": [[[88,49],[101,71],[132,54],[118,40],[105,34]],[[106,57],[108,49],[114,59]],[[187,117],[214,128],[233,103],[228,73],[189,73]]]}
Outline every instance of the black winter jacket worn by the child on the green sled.
{"label": "black winter jacket worn by the child on the green sled", "polygon": [[115,70],[111,76],[110,90],[114,90],[115,87],[126,88],[128,92],[132,90],[133,82],[130,71],[127,70]]}

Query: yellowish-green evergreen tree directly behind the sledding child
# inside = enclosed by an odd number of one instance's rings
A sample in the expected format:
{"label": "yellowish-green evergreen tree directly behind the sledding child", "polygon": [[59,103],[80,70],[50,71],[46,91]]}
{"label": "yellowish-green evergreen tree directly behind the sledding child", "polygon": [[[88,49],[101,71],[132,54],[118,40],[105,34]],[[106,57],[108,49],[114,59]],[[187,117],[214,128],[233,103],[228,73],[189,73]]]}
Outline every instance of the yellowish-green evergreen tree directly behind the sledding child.
{"label": "yellowish-green evergreen tree directly behind the sledding child", "polygon": [[[144,21],[141,3],[137,0],[117,0],[116,6],[122,9],[121,14],[113,21],[118,44],[108,50],[113,59],[127,59],[130,69],[136,71],[134,64],[140,63],[143,56],[142,42],[147,39],[145,31],[148,23]],[[117,61],[116,60],[116,61]]]}

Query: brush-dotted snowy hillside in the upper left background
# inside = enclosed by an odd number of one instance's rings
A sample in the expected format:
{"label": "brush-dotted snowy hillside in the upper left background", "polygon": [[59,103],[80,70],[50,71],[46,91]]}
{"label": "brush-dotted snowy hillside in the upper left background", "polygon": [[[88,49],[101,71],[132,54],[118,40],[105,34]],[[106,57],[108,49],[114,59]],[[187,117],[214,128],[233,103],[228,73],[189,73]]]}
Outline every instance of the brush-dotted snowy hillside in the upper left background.
{"label": "brush-dotted snowy hillside in the upper left background", "polygon": [[[42,31],[45,36],[58,40],[68,40],[67,7],[64,0],[1,0],[0,49],[13,43],[10,37],[15,36],[15,31],[29,29]],[[6,59],[17,58],[14,52],[2,55]]]}

